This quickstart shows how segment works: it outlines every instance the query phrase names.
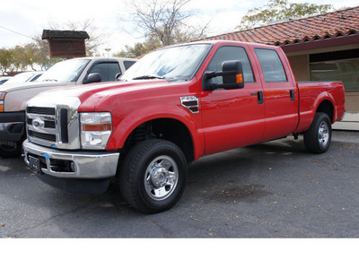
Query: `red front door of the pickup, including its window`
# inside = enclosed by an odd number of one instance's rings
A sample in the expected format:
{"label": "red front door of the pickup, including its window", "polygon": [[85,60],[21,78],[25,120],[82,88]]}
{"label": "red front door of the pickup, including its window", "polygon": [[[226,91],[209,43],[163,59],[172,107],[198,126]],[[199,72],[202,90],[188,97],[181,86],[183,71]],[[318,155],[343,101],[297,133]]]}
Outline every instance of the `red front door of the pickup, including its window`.
{"label": "red front door of the pickup, including its window", "polygon": [[[244,88],[201,91],[206,155],[259,143],[263,137],[263,90],[257,68],[252,68],[246,49],[239,46],[218,48],[206,72],[220,72],[222,63],[230,60],[241,61]],[[211,80],[222,83],[223,78],[219,76]]]}

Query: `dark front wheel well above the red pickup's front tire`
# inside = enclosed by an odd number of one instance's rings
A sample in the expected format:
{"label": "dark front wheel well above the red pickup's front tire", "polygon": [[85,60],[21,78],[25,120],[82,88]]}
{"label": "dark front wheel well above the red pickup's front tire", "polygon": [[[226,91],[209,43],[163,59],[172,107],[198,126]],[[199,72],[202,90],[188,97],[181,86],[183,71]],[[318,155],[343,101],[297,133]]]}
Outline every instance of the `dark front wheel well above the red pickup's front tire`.
{"label": "dark front wheel well above the red pickup's front tire", "polygon": [[187,126],[172,118],[158,118],[137,126],[128,135],[122,152],[126,154],[136,143],[144,140],[159,138],[171,141],[180,147],[188,162],[193,161],[194,146]]}

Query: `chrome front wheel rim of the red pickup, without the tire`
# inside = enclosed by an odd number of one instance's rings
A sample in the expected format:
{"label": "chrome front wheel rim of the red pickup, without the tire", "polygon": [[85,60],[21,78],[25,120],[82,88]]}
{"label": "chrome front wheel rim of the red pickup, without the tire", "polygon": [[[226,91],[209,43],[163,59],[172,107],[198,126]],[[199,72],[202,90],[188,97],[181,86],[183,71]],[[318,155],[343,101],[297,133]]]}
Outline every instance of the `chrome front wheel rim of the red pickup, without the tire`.
{"label": "chrome front wheel rim of the red pickup, without the tire", "polygon": [[177,187],[179,169],[176,162],[166,155],[151,161],[144,174],[144,188],[153,200],[169,197]]}

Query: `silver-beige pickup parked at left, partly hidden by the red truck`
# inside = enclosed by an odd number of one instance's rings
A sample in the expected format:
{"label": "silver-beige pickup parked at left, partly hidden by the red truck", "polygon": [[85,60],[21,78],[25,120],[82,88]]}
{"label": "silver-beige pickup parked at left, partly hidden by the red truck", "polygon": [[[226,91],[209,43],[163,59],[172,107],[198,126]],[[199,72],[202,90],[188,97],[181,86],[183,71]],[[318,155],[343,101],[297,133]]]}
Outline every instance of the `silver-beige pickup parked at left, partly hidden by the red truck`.
{"label": "silver-beige pickup parked at left, partly hidden by the red truck", "polygon": [[92,82],[114,82],[136,59],[83,57],[53,65],[36,82],[5,83],[0,88],[0,156],[21,154],[26,102],[41,91]]}

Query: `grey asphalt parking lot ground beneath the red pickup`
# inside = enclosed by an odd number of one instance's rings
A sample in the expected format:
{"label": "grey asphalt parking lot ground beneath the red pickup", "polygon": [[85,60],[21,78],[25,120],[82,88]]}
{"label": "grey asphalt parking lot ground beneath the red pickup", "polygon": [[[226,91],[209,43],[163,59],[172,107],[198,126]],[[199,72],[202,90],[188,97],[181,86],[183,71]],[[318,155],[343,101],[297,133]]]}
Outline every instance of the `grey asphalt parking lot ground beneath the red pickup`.
{"label": "grey asphalt parking lot ground beneath the red pickup", "polygon": [[42,183],[22,158],[0,159],[0,238],[357,238],[359,133],[333,132],[329,151],[302,137],[191,164],[179,204],[153,215],[119,197]]}

